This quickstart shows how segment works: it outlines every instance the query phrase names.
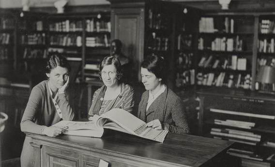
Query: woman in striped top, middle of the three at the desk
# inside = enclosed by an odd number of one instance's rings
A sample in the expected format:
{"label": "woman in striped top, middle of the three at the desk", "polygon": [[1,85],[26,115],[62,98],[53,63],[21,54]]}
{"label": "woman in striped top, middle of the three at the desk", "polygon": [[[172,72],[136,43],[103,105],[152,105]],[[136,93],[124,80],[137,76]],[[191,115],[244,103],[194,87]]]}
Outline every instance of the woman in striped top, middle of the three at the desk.
{"label": "woman in striped top, middle of the three at the desk", "polygon": [[94,92],[89,115],[101,115],[113,108],[132,112],[134,89],[121,82],[122,67],[119,59],[114,56],[104,57],[99,70],[104,85]]}

